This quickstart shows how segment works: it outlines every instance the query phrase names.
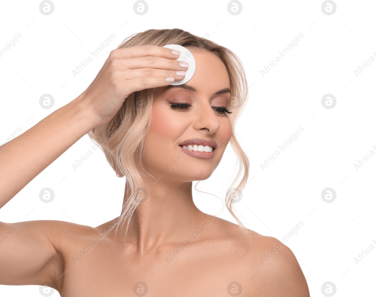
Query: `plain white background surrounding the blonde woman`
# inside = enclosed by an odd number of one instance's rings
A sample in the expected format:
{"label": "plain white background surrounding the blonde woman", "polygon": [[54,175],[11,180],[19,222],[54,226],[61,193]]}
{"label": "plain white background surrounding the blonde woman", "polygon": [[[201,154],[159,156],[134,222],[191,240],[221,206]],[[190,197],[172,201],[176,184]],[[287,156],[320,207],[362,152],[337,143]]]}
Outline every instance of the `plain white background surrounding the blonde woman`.
{"label": "plain white background surrounding the blonde woman", "polygon": [[[354,163],[370,150],[376,152],[376,62],[358,77],[354,70],[376,51],[376,3],[335,1],[335,13],[325,15],[321,0],[242,1],[242,12],[231,15],[228,1],[147,2],[145,15],[135,14],[133,1],[53,0],[51,15],[39,12],[39,1],[2,2],[0,49],[17,33],[22,37],[0,57],[0,143],[17,127],[24,132],[76,98],[124,38],[175,27],[209,35],[239,56],[250,85],[249,102],[236,127],[250,158],[250,181],[235,209],[248,228],[279,240],[304,222],[285,243],[299,259],[311,296],[323,296],[321,286],[327,281],[335,284],[335,296],[374,294],[376,250],[358,264],[354,258],[376,241],[376,156],[358,170]],[[72,70],[111,33],[116,37],[109,47],[74,77]],[[298,45],[262,77],[260,70],[299,33],[304,37]],[[51,109],[39,106],[45,93],[55,98]],[[321,105],[327,93],[337,98],[332,109]],[[262,170],[260,163],[299,127],[304,128],[299,138]],[[0,210],[0,219],[97,226],[117,217],[124,179],[115,176],[100,149],[78,169],[72,167],[92,151],[91,145],[87,135],[77,141]],[[229,146],[215,176],[198,188],[223,200],[234,169]],[[44,187],[55,192],[50,203],[39,199]],[[337,193],[332,203],[321,199],[327,187]],[[196,190],[194,201],[213,215],[223,207],[218,198]],[[235,222],[226,209],[218,216]],[[0,292],[40,296],[38,286],[0,286]]]}

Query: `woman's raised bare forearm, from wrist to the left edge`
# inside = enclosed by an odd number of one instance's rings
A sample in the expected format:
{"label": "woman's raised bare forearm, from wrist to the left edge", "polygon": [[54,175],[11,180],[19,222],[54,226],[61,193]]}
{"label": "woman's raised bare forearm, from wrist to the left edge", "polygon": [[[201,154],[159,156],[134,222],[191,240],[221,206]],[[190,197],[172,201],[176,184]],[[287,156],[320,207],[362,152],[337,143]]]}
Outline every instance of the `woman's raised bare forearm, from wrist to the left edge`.
{"label": "woman's raised bare forearm, from wrist to the left edge", "polygon": [[78,97],[0,146],[0,208],[94,127]]}

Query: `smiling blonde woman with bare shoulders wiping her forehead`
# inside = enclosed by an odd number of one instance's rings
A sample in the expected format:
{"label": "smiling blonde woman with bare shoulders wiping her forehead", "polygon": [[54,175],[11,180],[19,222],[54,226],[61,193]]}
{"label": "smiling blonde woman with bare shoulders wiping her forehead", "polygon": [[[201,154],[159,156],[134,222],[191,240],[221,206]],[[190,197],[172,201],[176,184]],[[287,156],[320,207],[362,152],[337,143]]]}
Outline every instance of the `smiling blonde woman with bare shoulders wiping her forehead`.
{"label": "smiling blonde woman with bare shoulders wiping her forehead", "polygon": [[[185,84],[171,86],[189,65],[167,44],[193,53],[196,71]],[[193,203],[192,181],[211,176],[229,141],[244,171],[237,190],[247,182],[248,159],[233,131],[243,98],[244,70],[227,48],[180,29],[124,41],[80,96],[0,147],[3,207],[89,133],[126,177],[120,216],[95,228],[0,223],[0,234],[17,228],[0,246],[0,284],[41,285],[45,296],[49,286],[70,297],[309,296],[291,250],[235,216],[236,194],[227,193],[226,207],[239,225]]]}

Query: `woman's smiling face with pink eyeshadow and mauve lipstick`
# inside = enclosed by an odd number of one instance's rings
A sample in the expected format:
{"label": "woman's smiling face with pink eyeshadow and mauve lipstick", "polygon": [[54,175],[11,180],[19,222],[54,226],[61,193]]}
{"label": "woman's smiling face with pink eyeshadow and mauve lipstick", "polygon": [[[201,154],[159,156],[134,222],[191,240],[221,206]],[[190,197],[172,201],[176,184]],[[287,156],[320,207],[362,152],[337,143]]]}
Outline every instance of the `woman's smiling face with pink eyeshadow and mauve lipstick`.
{"label": "woman's smiling face with pink eyeshadow and mauve lipstick", "polygon": [[230,141],[230,119],[223,111],[231,98],[227,69],[209,51],[194,51],[193,56],[196,71],[185,87],[155,90],[143,166],[156,179],[185,182],[209,178]]}

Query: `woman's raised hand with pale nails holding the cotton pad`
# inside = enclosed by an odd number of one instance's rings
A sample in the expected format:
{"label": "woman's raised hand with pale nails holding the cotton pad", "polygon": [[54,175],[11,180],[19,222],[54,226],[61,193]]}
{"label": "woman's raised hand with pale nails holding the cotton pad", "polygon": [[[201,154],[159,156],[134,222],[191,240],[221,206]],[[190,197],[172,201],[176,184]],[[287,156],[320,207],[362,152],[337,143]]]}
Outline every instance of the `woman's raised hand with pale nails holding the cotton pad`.
{"label": "woman's raised hand with pale nails holding the cotton pad", "polygon": [[104,125],[130,93],[170,85],[173,81],[166,81],[168,77],[182,80],[188,63],[177,61],[179,56],[179,51],[156,45],[112,50],[96,78],[76,100],[89,111],[96,127]]}

